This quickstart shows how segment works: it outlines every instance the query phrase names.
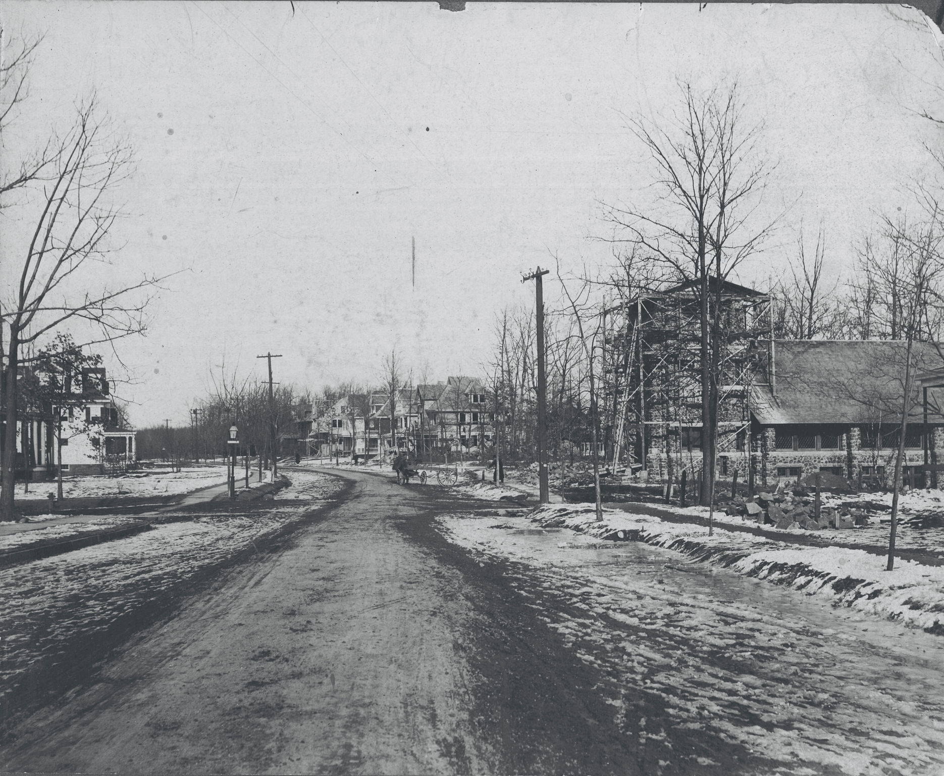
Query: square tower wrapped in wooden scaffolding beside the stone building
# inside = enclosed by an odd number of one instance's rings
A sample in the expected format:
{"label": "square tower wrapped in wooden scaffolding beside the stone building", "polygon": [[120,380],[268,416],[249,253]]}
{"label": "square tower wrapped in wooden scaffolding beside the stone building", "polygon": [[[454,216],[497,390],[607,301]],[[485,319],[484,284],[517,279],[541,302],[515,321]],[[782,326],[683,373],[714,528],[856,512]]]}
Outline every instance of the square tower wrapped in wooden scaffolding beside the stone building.
{"label": "square tower wrapped in wooden scaffolding beside the stone building", "polygon": [[[717,450],[719,474],[746,471],[750,395],[767,381],[770,297],[709,278],[708,304],[720,343]],[[606,453],[615,468],[677,477],[700,471],[701,294],[696,282],[641,295],[608,311],[604,351]],[[715,316],[715,310],[720,315]],[[738,460],[743,458],[743,461]]]}

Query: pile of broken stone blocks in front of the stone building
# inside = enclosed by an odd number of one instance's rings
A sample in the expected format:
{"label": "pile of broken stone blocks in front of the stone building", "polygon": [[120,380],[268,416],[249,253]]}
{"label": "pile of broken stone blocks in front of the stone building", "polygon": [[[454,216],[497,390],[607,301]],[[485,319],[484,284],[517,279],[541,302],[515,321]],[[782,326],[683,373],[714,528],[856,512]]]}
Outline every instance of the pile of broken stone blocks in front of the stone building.
{"label": "pile of broken stone blocks in front of the stone building", "polygon": [[868,515],[861,509],[848,507],[821,507],[816,514],[816,497],[801,486],[775,493],[761,492],[756,496],[734,496],[717,503],[717,508],[728,515],[741,515],[761,526],[777,528],[851,528],[867,526]]}

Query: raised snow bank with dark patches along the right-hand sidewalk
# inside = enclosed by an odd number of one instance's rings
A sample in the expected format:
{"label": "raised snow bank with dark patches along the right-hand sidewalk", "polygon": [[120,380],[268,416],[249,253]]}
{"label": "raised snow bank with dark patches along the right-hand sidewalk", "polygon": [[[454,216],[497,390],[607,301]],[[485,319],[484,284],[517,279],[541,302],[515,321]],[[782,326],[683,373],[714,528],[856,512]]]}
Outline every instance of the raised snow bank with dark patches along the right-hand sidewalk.
{"label": "raised snow bank with dark patches along the right-hand sidewalk", "polygon": [[805,595],[830,599],[909,628],[944,635],[944,567],[896,560],[885,571],[885,559],[860,549],[784,546],[763,537],[665,523],[657,517],[606,509],[597,521],[593,505],[554,505],[536,509],[531,519],[541,526],[562,526],[604,537],[615,530],[637,530],[647,543],[683,552],[748,577],[789,585]]}

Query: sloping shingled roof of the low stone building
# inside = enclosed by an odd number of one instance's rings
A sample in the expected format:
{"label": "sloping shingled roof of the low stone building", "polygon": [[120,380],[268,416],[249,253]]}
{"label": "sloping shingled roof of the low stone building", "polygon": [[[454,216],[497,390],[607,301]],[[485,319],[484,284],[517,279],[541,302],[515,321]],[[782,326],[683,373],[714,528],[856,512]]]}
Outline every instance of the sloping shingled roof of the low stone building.
{"label": "sloping shingled roof of the low stone building", "polygon": [[[751,388],[751,415],[762,425],[898,422],[905,349],[902,341],[775,340],[773,386]],[[914,354],[918,371],[944,365],[931,343],[916,342]],[[929,422],[944,422],[944,390],[928,393]]]}

